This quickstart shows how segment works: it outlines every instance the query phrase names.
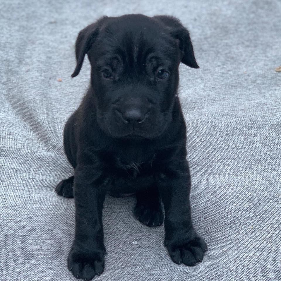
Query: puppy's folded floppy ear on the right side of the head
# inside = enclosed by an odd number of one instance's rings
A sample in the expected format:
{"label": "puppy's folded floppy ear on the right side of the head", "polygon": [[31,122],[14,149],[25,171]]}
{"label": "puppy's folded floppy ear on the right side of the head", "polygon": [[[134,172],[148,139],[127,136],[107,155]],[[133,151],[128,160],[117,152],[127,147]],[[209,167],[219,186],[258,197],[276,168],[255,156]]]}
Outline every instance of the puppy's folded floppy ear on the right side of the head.
{"label": "puppy's folded floppy ear on the right side of the head", "polygon": [[161,21],[166,27],[169,28],[170,34],[174,37],[182,53],[181,62],[192,68],[199,68],[190,40],[188,30],[181,24],[180,20],[172,16],[154,16],[155,19]]}

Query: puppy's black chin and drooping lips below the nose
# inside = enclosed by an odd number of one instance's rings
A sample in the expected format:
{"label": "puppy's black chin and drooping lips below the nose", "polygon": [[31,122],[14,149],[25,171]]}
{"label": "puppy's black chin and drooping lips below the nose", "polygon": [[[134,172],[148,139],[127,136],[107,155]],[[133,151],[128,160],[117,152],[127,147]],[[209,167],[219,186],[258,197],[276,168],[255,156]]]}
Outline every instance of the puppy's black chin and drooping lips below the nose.
{"label": "puppy's black chin and drooping lips below the nose", "polygon": [[[164,116],[165,115],[165,116]],[[97,123],[102,131],[111,138],[149,139],[159,138],[172,119],[171,114],[160,114],[142,124],[124,124],[112,116],[97,116]]]}

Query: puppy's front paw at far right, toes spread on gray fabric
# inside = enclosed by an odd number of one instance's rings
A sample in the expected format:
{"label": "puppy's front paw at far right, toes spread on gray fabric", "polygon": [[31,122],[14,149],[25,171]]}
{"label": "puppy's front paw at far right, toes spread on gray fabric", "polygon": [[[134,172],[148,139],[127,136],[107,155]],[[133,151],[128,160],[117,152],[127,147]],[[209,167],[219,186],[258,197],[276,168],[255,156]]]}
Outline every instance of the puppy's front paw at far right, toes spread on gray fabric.
{"label": "puppy's front paw at far right, toes spread on gray fabric", "polygon": [[207,251],[207,245],[203,238],[196,236],[186,242],[180,243],[180,245],[171,244],[167,245],[167,249],[170,257],[174,263],[184,263],[188,266],[194,266],[203,260],[205,251]]}

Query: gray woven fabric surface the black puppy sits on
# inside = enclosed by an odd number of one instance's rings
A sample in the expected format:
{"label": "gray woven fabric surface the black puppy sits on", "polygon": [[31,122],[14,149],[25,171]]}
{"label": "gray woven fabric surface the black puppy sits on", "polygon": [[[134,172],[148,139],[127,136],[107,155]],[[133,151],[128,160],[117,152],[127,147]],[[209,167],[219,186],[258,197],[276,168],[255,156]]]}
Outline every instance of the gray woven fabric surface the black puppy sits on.
{"label": "gray woven fabric surface the black puppy sits on", "polygon": [[74,42],[98,17],[125,13],[174,15],[190,30],[201,68],[180,66],[179,95],[193,221],[209,251],[195,267],[172,263],[163,227],[136,221],[133,198],[107,197],[96,280],[281,280],[279,0],[0,5],[1,281],[75,280],[66,267],[74,202],[54,193],[73,173],[63,126],[89,81],[88,61],[70,78]]}

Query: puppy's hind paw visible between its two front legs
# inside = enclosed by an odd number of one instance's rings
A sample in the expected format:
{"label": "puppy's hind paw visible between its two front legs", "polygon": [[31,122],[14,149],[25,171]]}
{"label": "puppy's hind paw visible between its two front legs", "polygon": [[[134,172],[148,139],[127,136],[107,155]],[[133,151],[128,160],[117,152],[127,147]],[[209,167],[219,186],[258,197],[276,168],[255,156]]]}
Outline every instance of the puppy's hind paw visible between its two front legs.
{"label": "puppy's hind paw visible between its two front legs", "polygon": [[136,205],[134,216],[137,220],[149,227],[156,227],[163,224],[164,215],[161,206]]}

